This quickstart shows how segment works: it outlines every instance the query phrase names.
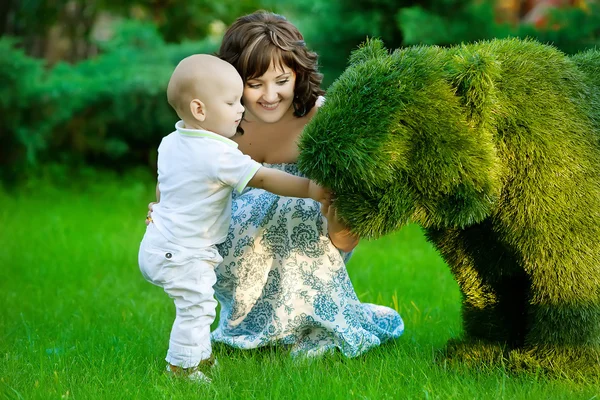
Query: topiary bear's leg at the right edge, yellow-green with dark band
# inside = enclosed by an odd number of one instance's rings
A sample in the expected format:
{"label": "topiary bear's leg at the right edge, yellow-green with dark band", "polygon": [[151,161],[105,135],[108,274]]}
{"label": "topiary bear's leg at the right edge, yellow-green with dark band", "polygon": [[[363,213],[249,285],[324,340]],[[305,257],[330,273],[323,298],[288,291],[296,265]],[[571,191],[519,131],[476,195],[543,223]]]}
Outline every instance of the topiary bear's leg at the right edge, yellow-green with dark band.
{"label": "topiary bear's leg at the right edge, yellow-green with dark band", "polygon": [[[526,266],[532,288],[523,348],[509,356],[516,370],[600,377],[600,271],[593,260],[567,272],[561,252],[554,263]],[[582,253],[581,256],[584,256]]]}

